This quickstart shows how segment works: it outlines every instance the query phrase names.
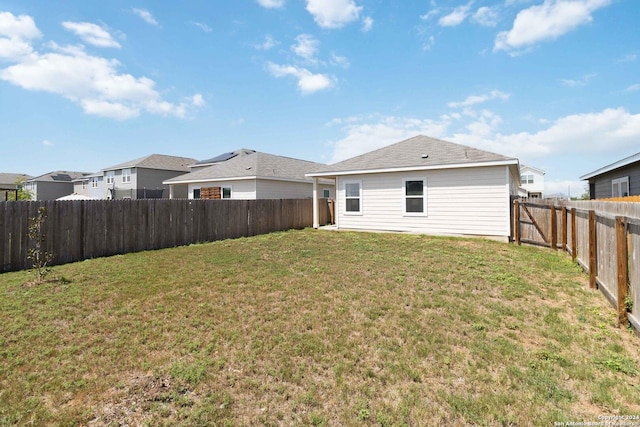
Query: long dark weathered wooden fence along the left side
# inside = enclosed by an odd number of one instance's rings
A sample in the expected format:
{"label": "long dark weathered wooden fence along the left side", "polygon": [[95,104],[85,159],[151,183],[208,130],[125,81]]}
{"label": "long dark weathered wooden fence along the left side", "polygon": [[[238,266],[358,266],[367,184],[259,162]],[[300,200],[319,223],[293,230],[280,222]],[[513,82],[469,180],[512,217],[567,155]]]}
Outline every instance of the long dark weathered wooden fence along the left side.
{"label": "long dark weathered wooden fence along the left side", "polygon": [[[0,273],[31,267],[29,221],[41,207],[53,265],[313,224],[311,199],[0,202]],[[320,224],[328,217],[320,209]]]}

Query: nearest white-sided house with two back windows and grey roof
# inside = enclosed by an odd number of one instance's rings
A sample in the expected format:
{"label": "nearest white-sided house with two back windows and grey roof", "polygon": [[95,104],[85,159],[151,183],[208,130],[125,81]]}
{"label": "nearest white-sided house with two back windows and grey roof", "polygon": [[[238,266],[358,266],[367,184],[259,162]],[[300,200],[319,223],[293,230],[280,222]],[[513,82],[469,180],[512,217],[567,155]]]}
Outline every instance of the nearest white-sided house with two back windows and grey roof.
{"label": "nearest white-sided house with two back windows and grey roof", "polygon": [[422,135],[307,176],[336,180],[339,229],[499,238],[520,185],[518,159]]}

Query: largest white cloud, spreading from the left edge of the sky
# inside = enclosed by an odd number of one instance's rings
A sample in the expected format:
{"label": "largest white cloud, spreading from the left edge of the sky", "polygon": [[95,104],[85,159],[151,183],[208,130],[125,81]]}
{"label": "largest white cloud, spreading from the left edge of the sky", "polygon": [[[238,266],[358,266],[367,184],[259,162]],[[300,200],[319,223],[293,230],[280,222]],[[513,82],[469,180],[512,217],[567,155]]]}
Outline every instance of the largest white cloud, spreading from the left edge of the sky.
{"label": "largest white cloud, spreading from the left edge of the sky", "polygon": [[13,64],[0,68],[0,80],[26,90],[61,95],[87,114],[116,119],[136,117],[141,111],[185,117],[204,102],[201,95],[189,102],[167,102],[153,80],[119,72],[121,64],[115,59],[89,55],[82,46],[62,47],[55,42],[46,46],[51,51],[33,51],[29,45],[29,55],[11,57]]}

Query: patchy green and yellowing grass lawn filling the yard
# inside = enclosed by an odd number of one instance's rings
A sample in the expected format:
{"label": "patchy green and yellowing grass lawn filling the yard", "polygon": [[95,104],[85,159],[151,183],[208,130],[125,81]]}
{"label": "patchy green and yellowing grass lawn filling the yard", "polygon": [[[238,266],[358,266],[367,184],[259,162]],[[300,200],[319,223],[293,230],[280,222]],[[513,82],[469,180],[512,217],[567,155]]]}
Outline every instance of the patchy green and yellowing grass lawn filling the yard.
{"label": "patchy green and yellowing grass lawn filling the yard", "polygon": [[640,414],[566,254],[274,233],[0,275],[0,425],[553,425]]}

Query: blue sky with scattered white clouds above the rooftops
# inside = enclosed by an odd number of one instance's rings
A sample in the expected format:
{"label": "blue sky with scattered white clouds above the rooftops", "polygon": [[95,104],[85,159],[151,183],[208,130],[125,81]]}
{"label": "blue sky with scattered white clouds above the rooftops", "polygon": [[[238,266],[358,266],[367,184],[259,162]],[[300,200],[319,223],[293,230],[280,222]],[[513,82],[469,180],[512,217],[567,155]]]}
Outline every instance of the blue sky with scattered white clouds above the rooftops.
{"label": "blue sky with scattered white clouds above the rooftops", "polygon": [[0,0],[0,171],[424,134],[546,171],[640,151],[638,0]]}

